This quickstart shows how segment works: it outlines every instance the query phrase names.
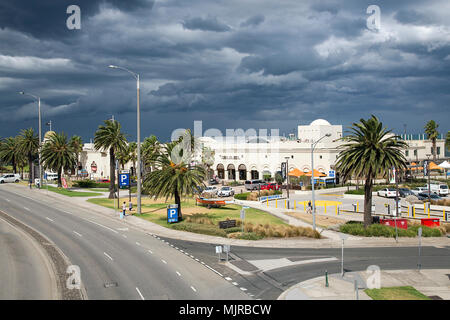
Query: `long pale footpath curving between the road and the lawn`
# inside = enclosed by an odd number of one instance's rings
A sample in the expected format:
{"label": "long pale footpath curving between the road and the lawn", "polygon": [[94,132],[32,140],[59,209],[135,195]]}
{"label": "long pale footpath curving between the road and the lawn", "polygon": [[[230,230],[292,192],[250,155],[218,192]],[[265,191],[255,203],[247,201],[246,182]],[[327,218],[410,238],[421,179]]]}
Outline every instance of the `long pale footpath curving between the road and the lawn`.
{"label": "long pale footpath curving between the road and the lawn", "polygon": [[[47,197],[47,191],[44,189],[28,189],[20,185],[8,185],[11,191],[23,194],[27,197],[34,198],[37,201],[45,201],[45,195]],[[240,239],[228,239],[222,237],[209,236],[198,233],[190,233],[185,231],[178,231],[169,228],[165,228],[158,224],[152,223],[148,220],[141,219],[137,216],[126,216],[125,219],[120,220],[119,213],[113,209],[109,209],[103,206],[99,206],[90,202],[87,202],[87,198],[67,197],[57,194],[55,192],[48,192],[48,198],[51,201],[57,200],[61,205],[71,203],[72,205],[89,211],[92,214],[102,216],[105,219],[120,222],[126,226],[132,226],[142,230],[146,233],[156,234],[160,237],[172,238],[184,241],[193,242],[207,242],[214,244],[227,244],[232,246],[247,246],[247,247],[261,247],[261,248],[340,248],[342,246],[342,240],[336,236],[326,239],[310,239],[310,238],[297,238],[297,239],[270,239],[270,240],[240,240]],[[262,209],[264,210],[264,209]],[[278,211],[273,214],[280,214]],[[296,223],[299,226],[309,226],[309,224],[302,222],[298,219],[292,218],[285,214],[280,217],[285,217]],[[294,219],[294,220],[291,220]],[[325,230],[327,231],[327,230]],[[324,231],[324,232],[325,232]],[[329,231],[332,232],[332,231]],[[339,236],[339,233],[335,233]],[[327,232],[328,235],[328,232]],[[450,243],[448,238],[422,238],[423,246],[448,246]],[[361,238],[349,236],[345,241],[345,247],[402,247],[402,246],[417,246],[418,240],[414,238],[399,238],[398,243],[393,238]]]}

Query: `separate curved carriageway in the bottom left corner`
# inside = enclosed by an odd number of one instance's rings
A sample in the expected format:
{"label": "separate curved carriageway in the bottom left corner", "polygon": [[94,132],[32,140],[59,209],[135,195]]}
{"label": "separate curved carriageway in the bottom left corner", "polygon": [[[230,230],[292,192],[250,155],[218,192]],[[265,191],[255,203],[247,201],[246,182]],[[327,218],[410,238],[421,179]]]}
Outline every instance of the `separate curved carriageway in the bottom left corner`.
{"label": "separate curved carriageway in the bottom left corner", "polygon": [[0,300],[57,297],[53,269],[44,251],[26,233],[0,218]]}

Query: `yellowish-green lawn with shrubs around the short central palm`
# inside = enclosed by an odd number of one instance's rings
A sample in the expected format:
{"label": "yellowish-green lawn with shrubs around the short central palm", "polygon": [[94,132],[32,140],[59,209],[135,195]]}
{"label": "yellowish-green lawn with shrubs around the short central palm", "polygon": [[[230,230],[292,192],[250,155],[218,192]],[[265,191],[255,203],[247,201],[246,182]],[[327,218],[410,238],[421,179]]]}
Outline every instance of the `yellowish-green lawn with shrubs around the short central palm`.
{"label": "yellowish-green lawn with shrubs around the short central palm", "polygon": [[[95,198],[88,199],[88,202],[114,209],[117,199]],[[119,203],[126,202],[128,207],[128,197],[122,197]],[[136,198],[132,198],[133,212],[136,212]],[[263,238],[280,237],[315,237],[320,238],[320,234],[311,228],[293,227],[283,220],[270,215],[264,211],[249,208],[246,209],[244,232],[240,222],[239,205],[226,205],[219,208],[208,209],[204,206],[196,206],[194,199],[184,199],[181,203],[183,221],[179,223],[167,223],[167,205],[173,200],[165,202],[163,199],[154,200],[148,197],[142,199],[142,219],[157,223],[163,227],[175,230],[188,231],[194,233],[219,236],[224,238],[238,238],[248,240],[259,240]],[[220,229],[219,221],[237,220],[237,226],[228,229]]]}

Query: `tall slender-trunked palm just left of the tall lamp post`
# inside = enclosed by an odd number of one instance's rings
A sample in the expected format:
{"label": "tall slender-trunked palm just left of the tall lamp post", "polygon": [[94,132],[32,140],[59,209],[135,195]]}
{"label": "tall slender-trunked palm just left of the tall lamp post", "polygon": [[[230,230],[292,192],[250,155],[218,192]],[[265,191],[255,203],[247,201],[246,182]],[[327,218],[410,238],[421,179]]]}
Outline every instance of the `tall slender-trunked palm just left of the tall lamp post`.
{"label": "tall slender-trunked palm just left of the tall lamp post", "polygon": [[125,135],[120,131],[121,126],[119,121],[105,120],[104,123],[105,125],[100,125],[95,132],[94,147],[96,150],[109,150],[109,199],[113,199],[116,180],[114,174],[116,162],[115,155],[116,152],[120,152],[120,150],[125,149],[127,140]]}

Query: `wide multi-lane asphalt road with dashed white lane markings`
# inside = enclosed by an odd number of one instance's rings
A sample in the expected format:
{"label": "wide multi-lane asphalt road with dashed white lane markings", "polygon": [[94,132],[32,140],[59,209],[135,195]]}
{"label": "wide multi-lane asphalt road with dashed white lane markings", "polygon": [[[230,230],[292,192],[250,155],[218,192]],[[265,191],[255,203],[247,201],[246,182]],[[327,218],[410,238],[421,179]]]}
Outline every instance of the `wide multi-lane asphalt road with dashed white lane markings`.
{"label": "wide multi-lane asphalt road with dashed white lane markings", "polygon": [[[1,210],[43,234],[79,266],[89,299],[250,299],[167,243],[42,192],[39,199],[2,185]],[[10,286],[25,290],[23,283]]]}

